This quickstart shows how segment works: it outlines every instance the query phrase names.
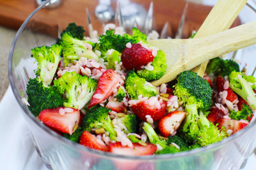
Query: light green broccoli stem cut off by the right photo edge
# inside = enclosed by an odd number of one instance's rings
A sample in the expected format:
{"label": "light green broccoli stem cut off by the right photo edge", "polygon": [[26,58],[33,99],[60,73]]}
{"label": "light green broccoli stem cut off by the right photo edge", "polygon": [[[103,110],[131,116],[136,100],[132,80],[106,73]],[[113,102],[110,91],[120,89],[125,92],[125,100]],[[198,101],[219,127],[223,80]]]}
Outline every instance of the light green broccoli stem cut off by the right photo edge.
{"label": "light green broccoli stem cut off by the right photo edge", "polygon": [[[253,110],[256,109],[255,93],[252,86],[247,83],[248,79],[252,81],[252,77],[247,78],[242,74],[242,72],[232,71],[228,76],[228,79],[229,87],[249,103]],[[248,98],[251,99],[250,102],[248,102]]]}

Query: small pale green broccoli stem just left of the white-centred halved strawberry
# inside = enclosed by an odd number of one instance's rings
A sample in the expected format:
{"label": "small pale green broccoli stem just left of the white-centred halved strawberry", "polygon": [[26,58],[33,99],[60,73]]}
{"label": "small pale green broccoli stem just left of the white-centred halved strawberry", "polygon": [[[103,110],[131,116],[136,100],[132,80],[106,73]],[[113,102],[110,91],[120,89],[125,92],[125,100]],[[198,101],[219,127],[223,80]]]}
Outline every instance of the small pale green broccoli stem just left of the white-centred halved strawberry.
{"label": "small pale green broccoli stem just left of the white-centred halved strawberry", "polygon": [[153,127],[148,122],[144,122],[142,129],[147,134],[150,143],[158,144],[163,149],[166,148],[166,141],[157,135]]}

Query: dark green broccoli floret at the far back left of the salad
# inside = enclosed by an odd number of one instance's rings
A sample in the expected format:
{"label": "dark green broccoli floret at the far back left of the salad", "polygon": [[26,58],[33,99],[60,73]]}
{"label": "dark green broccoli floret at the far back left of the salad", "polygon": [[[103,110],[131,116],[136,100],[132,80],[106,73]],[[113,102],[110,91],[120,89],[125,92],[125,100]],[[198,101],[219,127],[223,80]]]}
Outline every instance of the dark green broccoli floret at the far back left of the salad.
{"label": "dark green broccoli floret at the far back left of the salad", "polygon": [[[64,33],[70,33],[74,38],[83,40],[84,32],[83,26],[77,26],[75,23],[69,23],[66,30],[63,30],[60,34],[60,37],[62,37]],[[60,45],[61,39],[58,38],[56,44]]]}

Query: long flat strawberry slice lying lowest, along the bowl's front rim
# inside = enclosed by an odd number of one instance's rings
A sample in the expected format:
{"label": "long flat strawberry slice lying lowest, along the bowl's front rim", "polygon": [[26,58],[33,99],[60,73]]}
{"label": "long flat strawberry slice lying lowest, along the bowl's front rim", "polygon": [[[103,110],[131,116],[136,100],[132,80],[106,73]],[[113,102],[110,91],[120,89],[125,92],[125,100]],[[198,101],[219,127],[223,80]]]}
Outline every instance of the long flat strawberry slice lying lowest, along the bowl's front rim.
{"label": "long flat strawberry slice lying lowest, along the bowl's front rim", "polygon": [[157,151],[157,146],[152,143],[147,143],[146,146],[142,146],[138,143],[133,143],[133,147],[122,146],[121,142],[110,143],[109,144],[109,152],[122,154],[122,155],[151,155]]}

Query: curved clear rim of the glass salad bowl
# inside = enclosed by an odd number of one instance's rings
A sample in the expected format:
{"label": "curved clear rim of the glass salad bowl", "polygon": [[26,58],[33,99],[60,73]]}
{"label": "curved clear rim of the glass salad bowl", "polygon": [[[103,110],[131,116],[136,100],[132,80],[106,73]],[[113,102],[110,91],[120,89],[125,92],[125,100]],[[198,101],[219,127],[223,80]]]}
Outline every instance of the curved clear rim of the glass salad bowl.
{"label": "curved clear rim of the glass salad bowl", "polygon": [[[40,123],[38,121],[38,119],[36,119],[35,116],[33,116],[30,111],[27,109],[27,107],[24,105],[24,103],[22,102],[22,100],[20,99],[20,94],[19,91],[16,89],[15,87],[15,83],[13,80],[13,72],[12,72],[12,60],[13,60],[13,53],[14,53],[14,48],[17,42],[17,39],[20,36],[20,33],[23,31],[23,29],[25,28],[26,24],[29,22],[30,18],[33,17],[41,8],[43,8],[48,2],[50,2],[51,0],[46,0],[43,1],[39,7],[33,11],[29,17],[26,18],[26,20],[22,23],[22,25],[20,26],[20,29],[18,30],[17,34],[14,37],[14,40],[12,42],[11,45],[11,49],[10,49],[10,53],[9,53],[9,59],[8,59],[8,74],[9,74],[9,81],[10,81],[10,85],[11,88],[13,90],[14,96],[16,98],[16,100],[18,101],[18,103],[20,104],[20,107],[22,108],[23,112],[30,118],[32,119],[32,121],[37,124],[41,129],[43,129],[45,132],[47,132],[48,134],[52,135],[55,137],[55,139],[59,140],[60,142],[64,143],[65,145],[69,145],[74,147],[77,150],[81,150],[84,152],[89,152],[89,153],[94,153],[97,154],[99,156],[107,156],[107,157],[111,157],[111,158],[123,158],[123,159],[130,159],[130,160],[156,160],[156,159],[177,159],[177,158],[181,158],[181,157],[187,157],[187,156],[191,156],[191,155],[195,155],[198,153],[205,153],[205,152],[209,152],[212,150],[216,150],[217,148],[221,147],[222,145],[227,144],[228,142],[231,142],[232,140],[235,140],[236,137],[241,136],[243,133],[246,133],[247,130],[255,127],[256,128],[256,120],[251,122],[249,125],[247,125],[245,128],[241,129],[240,131],[236,132],[236,134],[229,136],[217,143],[208,145],[206,147],[201,147],[198,149],[194,149],[191,151],[185,151],[185,152],[180,152],[180,153],[175,153],[175,154],[160,154],[160,155],[148,155],[148,156],[128,156],[128,155],[119,155],[119,154],[114,154],[114,153],[108,153],[108,152],[103,152],[103,151],[98,151],[95,149],[90,149],[87,147],[84,147],[82,145],[80,145],[79,143],[75,143],[72,142],[62,136],[59,136],[57,133],[55,133],[54,131],[52,131],[50,128],[47,128],[45,125],[43,125],[42,123]],[[250,4],[248,4],[248,6],[256,12],[256,9],[254,9]]]}

